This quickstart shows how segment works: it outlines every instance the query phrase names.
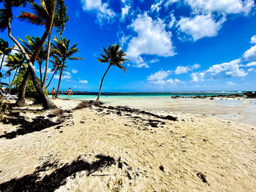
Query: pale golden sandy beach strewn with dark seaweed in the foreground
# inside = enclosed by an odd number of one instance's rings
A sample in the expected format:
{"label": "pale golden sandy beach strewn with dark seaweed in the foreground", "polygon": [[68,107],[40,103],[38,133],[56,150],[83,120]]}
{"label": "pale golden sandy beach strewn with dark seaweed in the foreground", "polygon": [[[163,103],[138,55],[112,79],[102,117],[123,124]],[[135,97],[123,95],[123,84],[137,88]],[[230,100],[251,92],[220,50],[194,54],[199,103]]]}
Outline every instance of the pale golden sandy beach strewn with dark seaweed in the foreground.
{"label": "pale golden sandy beach strewn with dark seaweed in the foreground", "polygon": [[1,123],[0,191],[256,191],[254,126],[191,111],[54,102],[62,115],[20,113],[28,122],[43,116],[49,127],[40,131]]}

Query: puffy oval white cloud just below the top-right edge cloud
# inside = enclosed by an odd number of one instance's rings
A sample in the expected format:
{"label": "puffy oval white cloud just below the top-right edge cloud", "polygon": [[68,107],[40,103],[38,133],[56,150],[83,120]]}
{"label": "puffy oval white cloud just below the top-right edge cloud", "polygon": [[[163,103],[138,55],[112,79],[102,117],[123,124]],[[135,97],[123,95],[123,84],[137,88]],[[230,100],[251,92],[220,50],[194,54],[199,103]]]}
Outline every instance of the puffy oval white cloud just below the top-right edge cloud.
{"label": "puffy oval white cloud just below the top-right edge cloud", "polygon": [[226,18],[223,17],[216,22],[211,14],[196,15],[194,18],[181,18],[176,26],[179,31],[192,36],[193,40],[197,41],[203,37],[216,36],[225,20]]}

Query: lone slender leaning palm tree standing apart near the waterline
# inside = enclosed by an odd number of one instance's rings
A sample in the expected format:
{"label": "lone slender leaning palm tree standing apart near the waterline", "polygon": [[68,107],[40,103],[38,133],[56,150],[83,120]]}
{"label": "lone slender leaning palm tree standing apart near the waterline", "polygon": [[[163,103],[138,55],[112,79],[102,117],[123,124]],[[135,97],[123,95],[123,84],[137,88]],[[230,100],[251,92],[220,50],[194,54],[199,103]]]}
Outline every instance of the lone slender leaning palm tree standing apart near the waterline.
{"label": "lone slender leaning palm tree standing apart near the waterline", "polygon": [[[117,66],[119,69],[123,70],[125,73],[127,72],[127,69],[122,66],[121,64],[124,64],[124,61],[129,61],[127,58],[123,58],[125,55],[124,50],[120,48],[120,45],[108,45],[108,50],[103,47],[103,50],[105,52],[105,55],[99,54],[102,56],[102,58],[97,58],[98,61],[104,63],[108,63],[108,69],[110,69],[110,66]],[[108,69],[106,70],[105,74],[102,77],[102,81],[100,82],[99,86],[99,93],[96,101],[99,101],[100,91],[102,90],[102,82],[104,80],[105,75],[108,72]]]}

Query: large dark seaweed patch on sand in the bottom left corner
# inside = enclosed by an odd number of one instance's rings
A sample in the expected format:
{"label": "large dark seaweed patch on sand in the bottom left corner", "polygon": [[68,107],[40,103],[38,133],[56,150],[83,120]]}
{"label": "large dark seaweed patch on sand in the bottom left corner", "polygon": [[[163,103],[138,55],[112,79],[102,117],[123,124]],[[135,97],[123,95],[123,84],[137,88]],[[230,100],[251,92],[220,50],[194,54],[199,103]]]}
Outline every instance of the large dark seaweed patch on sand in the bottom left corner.
{"label": "large dark seaweed patch on sand in the bottom left corner", "polygon": [[[77,172],[87,171],[87,176],[97,172],[100,169],[115,164],[115,159],[106,155],[96,155],[98,160],[91,164],[83,160],[72,161],[71,164],[65,164],[61,168],[54,170],[45,177],[40,178],[42,172],[47,171],[49,168],[58,166],[55,162],[50,164],[46,162],[42,166],[36,168],[33,174],[27,174],[20,178],[14,178],[5,183],[0,183],[0,191],[56,191],[61,185],[67,183],[67,177],[73,176]],[[128,174],[127,174],[128,175]],[[129,176],[130,177],[130,176]]]}

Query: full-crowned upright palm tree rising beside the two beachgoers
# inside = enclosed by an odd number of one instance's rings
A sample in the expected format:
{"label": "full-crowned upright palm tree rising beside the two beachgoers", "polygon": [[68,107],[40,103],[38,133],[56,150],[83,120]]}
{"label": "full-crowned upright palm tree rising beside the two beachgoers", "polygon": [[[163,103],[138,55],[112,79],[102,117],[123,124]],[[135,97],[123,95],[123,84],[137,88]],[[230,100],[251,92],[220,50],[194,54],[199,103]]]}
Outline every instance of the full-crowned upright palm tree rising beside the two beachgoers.
{"label": "full-crowned upright palm tree rising beside the two beachgoers", "polygon": [[83,59],[83,58],[75,58],[75,57],[72,57],[72,55],[74,53],[77,53],[78,52],[78,49],[75,48],[78,44],[75,43],[74,45],[72,45],[70,48],[69,48],[69,42],[70,42],[70,39],[66,39],[65,37],[60,37],[59,39],[57,39],[57,37],[53,37],[53,40],[55,42],[55,44],[52,44],[52,53],[53,55],[55,55],[56,57],[59,57],[61,58],[61,65],[60,65],[60,74],[59,74],[59,84],[58,84],[58,90],[57,90],[57,93],[56,93],[56,98],[58,98],[59,96],[59,87],[61,85],[61,76],[62,76],[62,72],[63,72],[63,69],[65,66],[65,63],[66,63],[66,60],[69,59],[69,60],[79,60],[79,59]]}

